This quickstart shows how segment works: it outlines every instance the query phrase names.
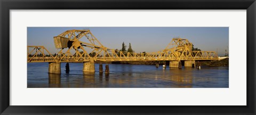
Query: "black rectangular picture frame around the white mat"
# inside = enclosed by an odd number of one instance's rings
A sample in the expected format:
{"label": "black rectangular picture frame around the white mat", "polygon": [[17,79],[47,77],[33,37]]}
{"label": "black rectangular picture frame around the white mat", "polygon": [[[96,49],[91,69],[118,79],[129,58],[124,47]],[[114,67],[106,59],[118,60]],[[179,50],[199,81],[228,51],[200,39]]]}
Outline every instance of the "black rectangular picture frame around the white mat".
{"label": "black rectangular picture frame around the white mat", "polygon": [[[0,112],[1,114],[256,114],[255,112],[255,0],[0,0]],[[246,10],[246,106],[10,106],[10,10],[62,9],[217,9]],[[237,22],[239,23],[239,22]],[[210,98],[209,98],[210,100]],[[235,101],[235,100],[234,100]]]}

